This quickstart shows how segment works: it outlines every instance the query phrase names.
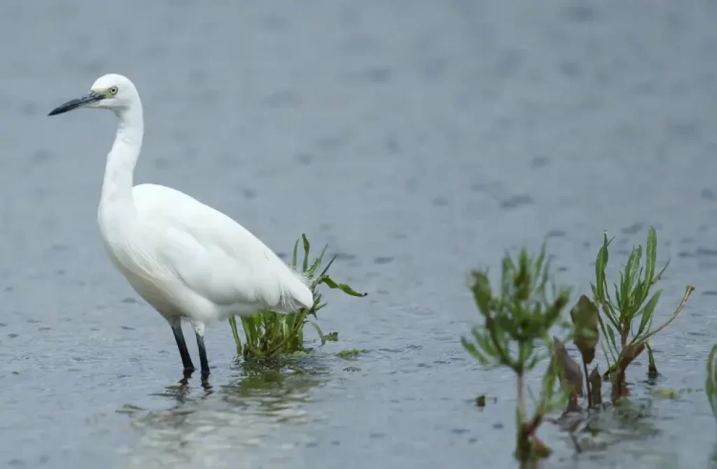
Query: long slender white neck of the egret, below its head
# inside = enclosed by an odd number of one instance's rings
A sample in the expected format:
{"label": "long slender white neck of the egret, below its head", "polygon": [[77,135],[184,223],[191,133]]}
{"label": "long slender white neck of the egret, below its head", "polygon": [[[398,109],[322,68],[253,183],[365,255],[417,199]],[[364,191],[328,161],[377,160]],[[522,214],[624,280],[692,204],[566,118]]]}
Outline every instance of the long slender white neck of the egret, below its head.
{"label": "long slender white neck of the egret, below its head", "polygon": [[120,123],[112,150],[107,156],[100,207],[113,207],[128,214],[134,210],[133,173],[142,148],[144,120],[137,100],[117,113]]}

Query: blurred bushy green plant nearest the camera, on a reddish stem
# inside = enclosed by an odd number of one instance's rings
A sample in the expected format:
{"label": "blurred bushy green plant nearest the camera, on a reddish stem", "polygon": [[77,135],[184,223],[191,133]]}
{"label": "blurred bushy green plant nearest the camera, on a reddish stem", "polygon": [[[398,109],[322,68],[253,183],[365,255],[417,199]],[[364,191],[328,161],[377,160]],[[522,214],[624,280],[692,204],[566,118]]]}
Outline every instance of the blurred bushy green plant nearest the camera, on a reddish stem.
{"label": "blurred bushy green plant nearest the camera, on a reddish stem", "polygon": [[[559,389],[561,380],[566,384],[574,381],[566,372],[569,363],[561,360],[564,347],[561,341],[551,340],[549,331],[554,326],[569,328],[569,323],[561,321],[561,311],[568,304],[570,290],[555,285],[548,288],[549,281],[545,245],[537,257],[529,256],[525,249],[515,261],[506,254],[497,293],[490,288],[487,271],[473,270],[470,289],[484,324],[473,328],[473,341],[461,339],[465,349],[481,364],[505,366],[516,374],[515,455],[523,462],[546,458],[551,453],[537,437],[536,430],[546,414],[562,407],[570,395],[582,392],[581,388],[569,385],[564,392]],[[550,365],[543,374],[541,392],[529,417],[525,375],[547,357],[551,357]],[[581,383],[581,376],[578,382]]]}

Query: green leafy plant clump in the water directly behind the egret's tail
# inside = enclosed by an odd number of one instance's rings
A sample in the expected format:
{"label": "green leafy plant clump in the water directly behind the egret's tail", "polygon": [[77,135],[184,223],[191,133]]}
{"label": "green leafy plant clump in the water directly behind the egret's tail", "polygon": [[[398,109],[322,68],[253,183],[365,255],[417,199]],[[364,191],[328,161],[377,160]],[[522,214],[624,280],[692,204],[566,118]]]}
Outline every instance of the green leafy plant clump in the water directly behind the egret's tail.
{"label": "green leafy plant clump in the water directly behind the egret's tail", "polygon": [[[317,275],[326,252],[326,247],[328,246],[324,246],[318,257],[309,264],[310,245],[305,235],[301,235],[301,240],[303,241],[304,255],[303,262],[300,265],[300,272],[307,275],[310,279],[309,288],[313,293],[314,304],[311,308],[301,308],[299,311],[290,314],[260,311],[253,316],[240,318],[242,328],[244,329],[244,344],[242,344],[239,338],[237,319],[235,317],[229,318],[229,325],[232,326],[234,341],[237,344],[237,354],[243,355],[244,358],[249,356],[255,358],[270,358],[281,354],[303,352],[304,326],[307,323],[310,323],[315,328],[321,339],[321,344],[325,344],[326,341],[338,340],[338,333],[332,332],[324,334],[318,323],[308,318],[308,316],[313,316],[317,319],[316,313],[326,306],[326,303],[321,303],[321,294],[317,291],[318,285],[324,284],[327,285],[328,288],[336,288],[346,293],[346,295],[357,297],[367,295],[367,293],[358,293],[346,283],[337,283],[329,277],[327,274],[328,268],[331,267],[333,261],[336,260],[336,256],[334,256]],[[297,270],[298,267],[298,245],[299,240],[296,240],[291,261],[291,267],[294,270]]]}

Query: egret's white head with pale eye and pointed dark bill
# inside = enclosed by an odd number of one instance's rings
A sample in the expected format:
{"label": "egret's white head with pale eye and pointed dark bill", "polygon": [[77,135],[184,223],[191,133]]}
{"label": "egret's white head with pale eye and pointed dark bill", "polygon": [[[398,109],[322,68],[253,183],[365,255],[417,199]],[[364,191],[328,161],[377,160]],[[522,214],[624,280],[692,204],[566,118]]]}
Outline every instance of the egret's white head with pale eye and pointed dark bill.
{"label": "egret's white head with pale eye and pointed dark bill", "polygon": [[138,99],[137,89],[128,77],[109,73],[95,81],[90,87],[90,93],[57,106],[48,115],[67,113],[68,110],[77,108],[110,109],[120,113],[136,103]]}

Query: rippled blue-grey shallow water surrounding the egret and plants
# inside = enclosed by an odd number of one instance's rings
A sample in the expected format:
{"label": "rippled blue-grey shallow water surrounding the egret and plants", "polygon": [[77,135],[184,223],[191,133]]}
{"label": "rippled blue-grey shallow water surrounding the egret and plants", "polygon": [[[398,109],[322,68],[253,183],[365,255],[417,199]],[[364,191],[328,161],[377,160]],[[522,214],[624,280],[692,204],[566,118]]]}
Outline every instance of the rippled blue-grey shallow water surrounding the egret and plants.
{"label": "rippled blue-grey shallow water surrounding the egret and plants", "polygon": [[[544,425],[546,467],[708,466],[704,394],[649,396],[703,386],[717,322],[717,3],[2,10],[0,464],[515,467],[513,378],[460,346],[478,321],[465,274],[550,234],[560,280],[587,292],[602,230],[617,265],[653,224],[671,258],[660,316],[697,288],[652,343],[662,375],[647,384],[635,366],[643,417],[604,417],[609,452],[575,455]],[[278,252],[304,231],[341,254],[336,278],[369,296],[326,293],[321,323],[338,343],[259,372],[220,325],[207,334],[212,388],[178,384],[168,326],[100,245],[113,116],[45,117],[106,72],[143,98],[136,182],[186,191]],[[370,352],[336,356],[356,347]],[[478,394],[498,401],[478,409]]]}

